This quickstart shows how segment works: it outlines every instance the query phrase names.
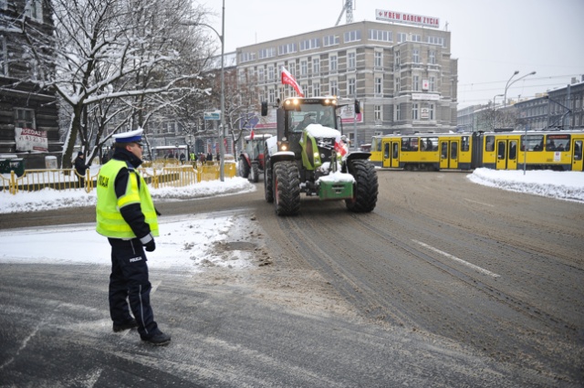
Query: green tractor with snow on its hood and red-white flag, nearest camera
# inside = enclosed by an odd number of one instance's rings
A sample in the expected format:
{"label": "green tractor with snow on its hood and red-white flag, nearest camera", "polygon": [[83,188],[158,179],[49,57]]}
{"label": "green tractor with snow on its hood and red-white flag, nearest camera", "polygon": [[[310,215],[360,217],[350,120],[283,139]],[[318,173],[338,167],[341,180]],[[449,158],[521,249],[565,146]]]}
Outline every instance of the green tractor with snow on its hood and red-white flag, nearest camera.
{"label": "green tractor with snow on its hood and red-white flag, nearest camera", "polygon": [[[265,142],[264,190],[277,215],[297,215],[300,194],[345,200],[355,213],[371,212],[378,182],[370,152],[348,152],[337,129],[335,98],[290,98],[276,110],[277,134]],[[267,115],[267,104],[262,104]]]}

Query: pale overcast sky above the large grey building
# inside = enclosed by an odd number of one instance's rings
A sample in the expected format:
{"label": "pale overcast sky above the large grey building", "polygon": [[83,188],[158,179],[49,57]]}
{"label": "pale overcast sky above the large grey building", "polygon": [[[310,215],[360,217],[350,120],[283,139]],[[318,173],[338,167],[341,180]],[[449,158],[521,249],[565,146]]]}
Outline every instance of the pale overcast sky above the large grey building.
{"label": "pale overcast sky above the large grey building", "polygon": [[[223,0],[193,0],[216,13],[209,24],[221,32]],[[335,26],[345,0],[224,0],[225,52],[268,40]],[[584,74],[584,0],[353,0],[353,21],[375,20],[383,9],[440,19],[452,32],[458,59],[459,108],[503,94],[534,97],[565,87]],[[345,16],[341,24],[345,23]],[[220,51],[218,51],[220,53]],[[501,101],[498,97],[497,101]]]}

